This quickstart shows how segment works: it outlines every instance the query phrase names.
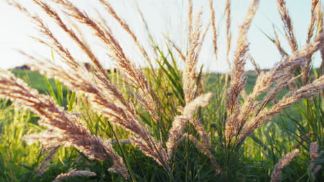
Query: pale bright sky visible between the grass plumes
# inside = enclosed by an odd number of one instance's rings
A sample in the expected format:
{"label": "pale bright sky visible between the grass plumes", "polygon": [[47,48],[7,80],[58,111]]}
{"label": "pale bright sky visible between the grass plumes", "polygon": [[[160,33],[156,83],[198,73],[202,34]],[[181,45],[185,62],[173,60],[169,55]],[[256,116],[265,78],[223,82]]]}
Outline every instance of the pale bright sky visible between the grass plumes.
{"label": "pale bright sky visible between the grass plumes", "polygon": [[[31,3],[30,0],[17,1],[21,2],[21,4],[28,8],[28,10],[39,14],[41,17],[44,17],[44,14],[42,14],[37,7],[33,6],[33,3]],[[44,1],[49,2],[49,0]],[[87,12],[89,16],[98,17],[98,14],[101,14],[101,16],[105,18],[107,25],[114,32],[114,35],[117,37],[118,41],[120,41],[120,44],[124,48],[127,57],[141,66],[146,65],[139,50],[136,49],[134,43],[132,42],[132,39],[130,39],[129,35],[127,35],[127,33],[118,26],[116,21],[114,21],[114,19],[112,19],[107,12],[105,12],[105,9],[100,6],[98,0],[72,1],[75,2],[80,9]],[[144,28],[143,22],[141,21],[141,18],[137,12],[136,1],[111,0],[109,2],[115,8],[120,17],[129,23],[130,28],[135,32],[145,48],[150,50],[150,41],[147,37],[147,32]],[[204,28],[206,28],[206,25],[210,21],[208,0],[193,0],[193,2],[194,13],[197,13],[202,8],[204,12],[202,21],[204,22]],[[144,14],[145,20],[149,26],[149,30],[152,33],[156,43],[161,46],[163,50],[165,50],[166,41],[163,37],[164,35],[168,35],[172,41],[182,48],[183,52],[186,52],[186,43],[188,40],[188,1],[137,0],[137,3],[138,7]],[[233,41],[231,58],[233,57],[233,50],[235,50],[237,27],[244,20],[249,3],[251,3],[250,0],[232,0],[231,32],[233,34]],[[298,39],[298,45],[300,46],[305,44],[305,39],[307,37],[307,27],[310,20],[310,4],[310,0],[287,0],[287,7],[294,22],[294,30]],[[213,44],[211,38],[212,31],[210,29],[199,56],[199,65],[204,65],[204,70],[206,71],[228,71],[228,65],[225,59],[226,34],[224,6],[224,0],[214,1],[216,26],[219,32],[219,59],[216,61],[213,57]],[[57,8],[57,6],[54,7]],[[78,51],[77,46],[69,41],[66,34],[60,31],[59,28],[55,26],[55,23],[51,22],[51,19],[46,19],[46,23],[48,23],[48,26],[55,32],[55,35],[60,38],[60,41],[71,49],[71,52],[75,54],[78,61],[88,61],[87,57]],[[35,54],[42,57],[51,58],[51,50],[44,47],[44,45],[37,43],[31,38],[42,37],[42,34],[37,32],[35,24],[23,13],[19,12],[19,10],[8,6],[5,0],[0,0],[0,25],[0,68],[8,69],[30,62],[30,60],[26,59],[26,57],[19,54],[17,50],[23,50],[28,54]],[[282,45],[289,52],[289,45],[287,44],[287,41],[285,41],[282,22],[280,21],[280,16],[276,6],[276,0],[262,0],[260,1],[260,8],[257,14],[255,14],[255,19],[253,20],[253,24],[248,34],[248,39],[251,43],[250,53],[261,68],[271,68],[274,63],[280,61],[280,54],[275,45],[273,45],[273,43],[271,43],[271,41],[269,41],[269,39],[264,35],[265,33],[273,37],[273,25],[275,25],[278,30]],[[87,41],[90,45],[92,45],[91,48],[100,58],[102,65],[104,65],[106,68],[114,67],[114,61],[107,57],[107,50],[103,48],[98,39],[93,37],[91,31],[87,30],[85,27],[82,27],[82,32],[86,34],[85,37]],[[231,58],[230,61],[232,60]],[[183,66],[183,63],[181,63],[179,57],[176,57],[176,59],[179,60],[179,64],[182,64]],[[316,55],[314,57],[314,67],[318,67],[320,63],[320,57]],[[249,61],[246,63],[246,70],[253,70],[253,65]]]}

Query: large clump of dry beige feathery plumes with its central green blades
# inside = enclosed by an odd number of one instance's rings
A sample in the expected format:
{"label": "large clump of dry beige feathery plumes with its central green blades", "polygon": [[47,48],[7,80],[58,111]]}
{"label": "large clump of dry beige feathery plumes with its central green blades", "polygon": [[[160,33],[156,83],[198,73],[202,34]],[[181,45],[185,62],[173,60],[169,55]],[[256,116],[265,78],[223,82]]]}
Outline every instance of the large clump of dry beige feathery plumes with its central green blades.
{"label": "large clump of dry beige feathery plumes with its central green blades", "polygon": [[[289,105],[300,101],[300,99],[315,97],[324,89],[323,71],[316,79],[309,77],[313,55],[320,52],[322,60],[324,60],[321,1],[312,1],[312,19],[309,23],[307,42],[299,47],[285,1],[278,0],[278,11],[284,23],[285,37],[287,37],[291,46],[292,53],[288,54],[282,48],[275,32],[276,38],[273,39],[273,43],[276,44],[282,59],[269,71],[261,70],[253,62],[258,77],[250,94],[244,92],[246,85],[244,65],[250,57],[247,33],[258,10],[260,0],[251,1],[245,19],[238,28],[238,37],[234,49],[231,48],[231,0],[226,1],[224,14],[227,44],[222,49],[226,49],[226,59],[231,64],[231,72],[218,80],[219,83],[224,81],[224,84],[221,91],[217,93],[204,92],[201,72],[197,68],[199,52],[210,25],[213,54],[215,59],[218,59],[217,55],[220,48],[217,38],[219,38],[219,32],[215,26],[215,10],[212,0],[209,1],[211,23],[208,26],[201,23],[203,10],[193,14],[192,0],[188,1],[188,48],[186,53],[166,37],[168,43],[177,51],[179,59],[185,65],[181,71],[177,69],[175,63],[171,65],[168,61],[165,61],[166,57],[159,46],[154,44],[154,39],[149,31],[147,31],[147,34],[152,39],[155,57],[147,52],[129,24],[116,13],[109,1],[98,0],[98,3],[107,10],[108,14],[116,19],[120,27],[129,34],[131,38],[129,41],[135,43],[143,59],[149,63],[151,70],[148,74],[147,70],[136,65],[132,57],[127,55],[127,50],[120,45],[109,28],[109,24],[102,19],[103,15],[90,17],[86,12],[75,6],[73,1],[69,0],[30,1],[47,15],[47,17],[39,17],[21,6],[17,1],[6,1],[33,20],[39,32],[43,35],[35,38],[35,40],[51,48],[58,55],[57,59],[64,63],[64,66],[57,65],[50,59],[21,52],[28,59],[33,60],[33,63],[30,63],[30,68],[48,78],[59,80],[67,88],[78,93],[78,97],[86,98],[90,109],[100,117],[105,118],[105,125],[110,125],[112,130],[122,130],[125,143],[138,148],[145,156],[155,161],[160,166],[159,168],[165,171],[170,181],[184,180],[183,176],[186,179],[186,175],[189,175],[189,173],[177,173],[177,168],[179,168],[177,165],[188,165],[188,156],[186,158],[187,163],[179,162],[181,152],[179,154],[177,150],[183,150],[183,145],[185,149],[190,149],[188,148],[189,142],[193,143],[197,150],[208,157],[207,163],[213,165],[214,175],[212,176],[215,179],[210,179],[211,181],[235,180],[235,170],[240,168],[240,166],[235,165],[240,162],[240,155],[242,154],[240,151],[246,139],[255,130],[280,114],[282,110],[288,108]],[[143,23],[146,23],[143,14],[139,13]],[[69,19],[65,19],[66,17],[69,17]],[[46,26],[44,19],[48,18],[55,22],[56,26],[65,32],[75,45],[78,45],[83,54],[87,56],[87,61],[91,63],[93,70],[87,69],[71,53],[69,48],[61,43],[62,41],[55,36],[51,28]],[[107,56],[116,62],[118,69],[128,83],[127,88],[125,88],[127,92],[118,88],[118,85],[114,84],[112,78],[109,77],[100,59],[93,52],[92,46],[80,33],[80,25],[82,25],[82,28],[89,28],[93,32],[93,39],[100,40],[108,52]],[[231,50],[234,52],[232,58],[230,57]],[[168,52],[168,54],[172,54],[172,52]],[[161,65],[159,70],[154,68],[152,64],[154,60]],[[174,61],[173,57],[172,60]],[[154,69],[156,69],[156,72]],[[162,77],[161,75],[166,78],[165,81],[172,83],[172,92],[177,96],[177,101],[165,102],[165,97],[160,91],[163,88],[156,89],[156,85],[162,84],[161,79],[159,79],[159,77]],[[230,80],[228,76],[231,78]],[[151,77],[157,82],[156,85],[152,83]],[[297,84],[299,80],[302,81],[302,84]],[[132,86],[129,87],[129,85]],[[278,99],[278,94],[287,87],[290,88],[290,92]],[[210,99],[215,98],[215,94],[219,94],[216,96],[220,105],[217,108],[219,118],[212,118],[219,119],[221,122],[218,122],[219,125],[215,126],[217,132],[210,132],[208,121],[202,122],[205,119],[204,116],[201,116],[201,107],[208,107]],[[85,124],[87,118],[82,118],[78,114],[66,110],[62,105],[58,105],[52,97],[40,94],[24,81],[4,70],[0,72],[0,97],[10,99],[15,105],[37,114],[39,116],[38,124],[46,128],[42,132],[27,134],[23,137],[28,144],[39,142],[44,150],[51,150],[37,168],[39,175],[43,174],[48,168],[48,162],[53,159],[58,148],[73,147],[89,160],[111,161],[111,166],[107,166],[107,169],[110,172],[120,174],[125,180],[136,181],[138,178],[138,174],[134,172],[136,166],[129,163],[129,159],[126,157],[127,153],[120,144],[123,141],[118,139],[116,132],[113,131],[115,139],[109,139],[99,132],[93,132],[91,127]],[[143,111],[145,114],[143,114]],[[208,112],[208,114],[213,116],[216,113]],[[118,151],[116,151],[116,148],[118,148]],[[312,160],[318,157],[317,153],[314,154],[314,148],[316,148],[316,144],[311,146]],[[299,150],[295,149],[283,156],[274,167],[271,181],[280,180],[282,168],[294,159],[298,152]],[[186,153],[186,155],[188,154]],[[136,160],[136,156],[133,157],[135,158],[133,160]],[[195,161],[195,163],[199,163],[199,161]],[[316,163],[309,165],[309,174],[311,174],[310,177],[313,180],[316,179],[316,173],[320,170],[320,167],[317,166],[321,167]],[[183,166],[183,168],[186,167]],[[186,171],[188,171],[187,168]],[[68,176],[96,175],[94,172],[73,169],[65,174],[58,175],[55,180],[64,179]],[[175,175],[180,175],[180,177]]]}

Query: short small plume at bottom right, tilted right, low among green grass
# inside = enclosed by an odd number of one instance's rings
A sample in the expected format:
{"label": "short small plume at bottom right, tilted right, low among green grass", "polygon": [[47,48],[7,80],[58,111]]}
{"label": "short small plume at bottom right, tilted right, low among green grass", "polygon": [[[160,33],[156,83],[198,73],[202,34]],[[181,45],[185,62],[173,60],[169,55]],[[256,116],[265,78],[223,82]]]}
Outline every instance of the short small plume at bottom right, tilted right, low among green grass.
{"label": "short small plume at bottom right, tilted right, low among green grass", "polygon": [[298,153],[299,149],[295,149],[292,152],[285,154],[285,156],[282,156],[282,158],[278,161],[275,168],[273,169],[273,172],[271,174],[271,182],[280,181],[280,179],[282,178],[281,170],[285,168],[285,166],[288,165]]}

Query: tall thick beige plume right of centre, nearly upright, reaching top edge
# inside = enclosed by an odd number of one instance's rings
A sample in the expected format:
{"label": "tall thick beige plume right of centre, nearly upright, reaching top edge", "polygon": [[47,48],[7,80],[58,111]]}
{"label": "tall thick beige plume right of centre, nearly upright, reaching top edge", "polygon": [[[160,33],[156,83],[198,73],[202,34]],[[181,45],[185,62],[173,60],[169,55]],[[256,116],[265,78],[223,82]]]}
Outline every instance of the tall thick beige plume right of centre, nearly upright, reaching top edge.
{"label": "tall thick beige plume right of centre, nearly upright, reaching top edge", "polygon": [[231,86],[228,88],[227,97],[227,115],[228,119],[226,121],[226,141],[230,142],[234,134],[233,126],[236,118],[240,112],[240,105],[238,99],[242,90],[244,90],[244,85],[246,82],[246,77],[244,74],[244,65],[246,63],[247,52],[249,51],[249,42],[247,41],[246,34],[251,26],[252,19],[255,15],[256,10],[258,10],[260,1],[254,0],[249,6],[249,10],[246,14],[244,23],[239,28],[239,35],[237,39],[237,48],[235,50],[235,56],[233,61],[233,68],[231,72]]}

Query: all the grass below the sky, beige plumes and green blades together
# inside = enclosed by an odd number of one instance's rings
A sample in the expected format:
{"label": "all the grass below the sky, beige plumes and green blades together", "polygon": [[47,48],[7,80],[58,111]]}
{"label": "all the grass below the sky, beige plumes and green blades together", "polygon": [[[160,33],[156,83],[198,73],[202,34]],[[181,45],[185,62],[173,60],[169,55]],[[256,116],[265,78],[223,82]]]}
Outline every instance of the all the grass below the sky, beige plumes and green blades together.
{"label": "all the grass below the sky, beige plumes and green blades together", "polygon": [[[33,60],[30,67],[34,71],[45,75],[47,93],[39,93],[1,70],[0,97],[10,100],[1,102],[1,116],[6,116],[1,119],[5,142],[0,172],[4,181],[60,181],[68,177],[73,181],[78,176],[78,180],[93,181],[320,181],[323,177],[323,152],[318,148],[324,145],[324,76],[323,72],[311,72],[313,55],[321,52],[323,59],[321,1],[312,1],[308,39],[299,47],[285,1],[278,0],[292,53],[282,48],[275,32],[271,41],[282,59],[269,71],[255,66],[258,75],[249,94],[244,73],[250,57],[247,32],[259,0],[251,1],[234,49],[231,1],[226,1],[224,47],[231,72],[219,75],[197,67],[209,25],[201,22],[203,10],[193,14],[191,0],[186,54],[168,37],[170,46],[163,51],[147,32],[154,55],[147,53],[131,25],[109,1],[98,1],[149,63],[150,68],[144,69],[120,45],[102,21],[103,15],[90,17],[68,0],[33,0],[78,45],[93,70],[87,70],[55,37],[44,18],[16,1],[7,1],[34,21],[43,34],[35,40],[51,48],[64,66],[21,52]],[[209,10],[217,59],[222,46],[217,42],[213,1],[209,1]],[[142,19],[145,23],[143,14]],[[80,23],[116,61],[116,74],[107,74],[92,45],[80,34]],[[232,59],[230,51],[234,52]],[[177,59],[184,63],[183,70]]]}

